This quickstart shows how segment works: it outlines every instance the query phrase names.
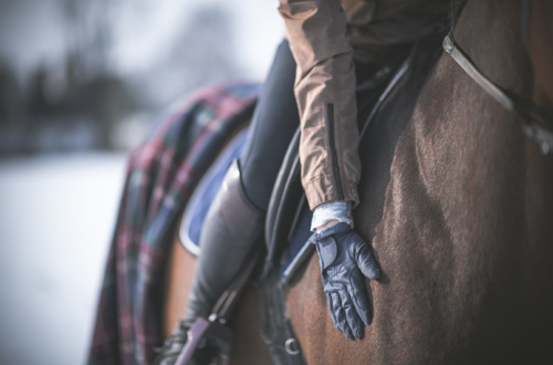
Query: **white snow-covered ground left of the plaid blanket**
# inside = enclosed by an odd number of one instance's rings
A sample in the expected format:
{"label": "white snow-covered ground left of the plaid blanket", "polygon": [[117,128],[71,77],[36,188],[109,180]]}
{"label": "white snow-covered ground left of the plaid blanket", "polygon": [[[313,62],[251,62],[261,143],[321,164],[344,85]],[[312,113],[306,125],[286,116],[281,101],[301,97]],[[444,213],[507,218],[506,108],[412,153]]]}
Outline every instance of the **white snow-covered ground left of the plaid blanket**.
{"label": "white snow-covered ground left of the plaid blanket", "polygon": [[0,364],[84,364],[123,154],[0,160]]}

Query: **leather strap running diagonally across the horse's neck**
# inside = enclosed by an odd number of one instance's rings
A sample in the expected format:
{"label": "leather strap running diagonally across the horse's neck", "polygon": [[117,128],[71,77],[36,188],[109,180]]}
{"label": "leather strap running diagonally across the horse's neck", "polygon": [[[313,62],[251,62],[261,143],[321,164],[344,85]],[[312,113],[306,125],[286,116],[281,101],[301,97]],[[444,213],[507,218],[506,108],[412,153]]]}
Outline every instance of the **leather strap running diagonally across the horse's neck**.
{"label": "leather strap running diagonally across the horse's neck", "polygon": [[486,77],[457,45],[451,32],[444,39],[442,46],[473,81],[522,123],[525,136],[538,145],[544,155],[553,152],[553,132],[543,126],[549,119],[545,112],[533,103],[523,102],[520,97],[517,97],[519,100],[517,103],[513,96],[508,95],[507,92]]}

